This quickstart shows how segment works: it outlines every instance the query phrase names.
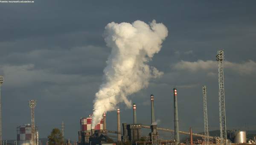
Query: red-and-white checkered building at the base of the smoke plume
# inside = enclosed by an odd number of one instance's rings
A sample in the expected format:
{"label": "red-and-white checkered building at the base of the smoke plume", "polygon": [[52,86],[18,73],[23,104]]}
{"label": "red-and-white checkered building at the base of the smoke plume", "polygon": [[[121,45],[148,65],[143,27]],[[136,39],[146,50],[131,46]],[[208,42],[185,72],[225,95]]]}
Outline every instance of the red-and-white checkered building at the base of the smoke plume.
{"label": "red-and-white checkered building at the base of the smoke plume", "polygon": [[81,130],[78,132],[79,134],[79,145],[86,145],[89,142],[90,137],[93,135],[94,131],[102,131],[103,132],[103,119],[92,128],[92,116],[84,117],[80,119]]}

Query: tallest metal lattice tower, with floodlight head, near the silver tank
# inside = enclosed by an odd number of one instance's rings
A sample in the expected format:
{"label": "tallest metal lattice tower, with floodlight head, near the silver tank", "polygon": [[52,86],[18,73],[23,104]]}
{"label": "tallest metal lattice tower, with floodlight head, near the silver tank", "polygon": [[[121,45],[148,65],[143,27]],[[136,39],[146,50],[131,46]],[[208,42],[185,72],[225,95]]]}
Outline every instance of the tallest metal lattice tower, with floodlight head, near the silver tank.
{"label": "tallest metal lattice tower, with floodlight head, near the silver tank", "polygon": [[223,61],[224,51],[219,50],[216,55],[218,61],[218,83],[219,83],[219,113],[220,113],[220,133],[221,145],[227,145],[227,130],[226,130],[226,113],[225,113],[225,96],[224,96],[224,73]]}

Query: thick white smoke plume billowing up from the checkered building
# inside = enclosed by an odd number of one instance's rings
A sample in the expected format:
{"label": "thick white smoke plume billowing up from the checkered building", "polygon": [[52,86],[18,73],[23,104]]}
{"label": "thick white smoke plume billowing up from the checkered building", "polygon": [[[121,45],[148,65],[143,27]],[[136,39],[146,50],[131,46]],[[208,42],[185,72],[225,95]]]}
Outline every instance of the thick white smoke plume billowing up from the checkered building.
{"label": "thick white smoke plume billowing up from the checkered building", "polygon": [[148,86],[150,78],[163,75],[148,61],[161,49],[168,30],[153,20],[149,25],[137,20],[133,23],[108,23],[105,42],[112,48],[104,69],[104,82],[96,93],[93,108],[93,126],[104,112],[116,110],[124,102],[131,107],[127,96]]}

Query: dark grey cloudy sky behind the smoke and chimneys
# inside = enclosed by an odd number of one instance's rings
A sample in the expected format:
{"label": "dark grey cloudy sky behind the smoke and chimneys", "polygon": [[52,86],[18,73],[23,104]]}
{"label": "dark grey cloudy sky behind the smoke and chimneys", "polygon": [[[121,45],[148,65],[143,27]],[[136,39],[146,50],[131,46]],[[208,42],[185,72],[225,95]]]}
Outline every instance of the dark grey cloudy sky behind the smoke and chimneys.
{"label": "dark grey cloudy sky behind the smoke and chimneys", "polygon": [[[0,3],[3,139],[15,139],[16,127],[30,123],[28,100],[35,99],[40,137],[61,128],[64,121],[65,137],[78,140],[79,119],[92,113],[111,53],[102,36],[105,26],[135,20],[156,20],[169,31],[149,63],[164,75],[129,96],[137,104],[137,122],[150,124],[150,94],[154,94],[158,125],[173,129],[176,87],[180,130],[204,131],[202,85],[207,85],[209,130],[218,129],[215,55],[223,48],[227,129],[256,130],[255,4],[253,0]],[[122,122],[131,123],[131,108],[119,107]],[[116,112],[108,113],[107,119],[108,129],[115,130]]]}

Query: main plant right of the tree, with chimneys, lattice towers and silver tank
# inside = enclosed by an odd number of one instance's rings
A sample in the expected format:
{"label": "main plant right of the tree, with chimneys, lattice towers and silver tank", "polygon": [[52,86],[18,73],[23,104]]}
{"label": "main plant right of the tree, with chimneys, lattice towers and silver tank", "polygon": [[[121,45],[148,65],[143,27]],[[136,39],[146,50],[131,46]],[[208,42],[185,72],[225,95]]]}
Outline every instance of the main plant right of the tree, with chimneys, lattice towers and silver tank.
{"label": "main plant right of the tree, with chimneys, lattice towers and silver tank", "polygon": [[[154,95],[150,95],[151,100],[151,125],[144,125],[137,122],[136,104],[133,104],[133,124],[122,123],[121,132],[121,120],[120,109],[117,109],[117,129],[116,131],[107,130],[106,125],[106,113],[102,114],[102,120],[95,126],[91,126],[92,116],[80,119],[81,130],[79,133],[78,145],[99,145],[105,143],[117,143],[117,144],[142,144],[142,145],[231,145],[231,144],[254,144],[255,141],[248,141],[245,131],[228,131],[226,129],[226,115],[225,115],[225,96],[224,96],[224,73],[223,73],[223,61],[224,51],[221,49],[217,52],[216,61],[218,62],[218,86],[219,86],[219,116],[220,116],[220,136],[209,136],[208,128],[208,114],[207,114],[207,86],[202,87],[203,98],[203,112],[204,112],[204,134],[192,133],[192,128],[189,128],[189,132],[179,130],[178,119],[178,101],[177,101],[177,89],[173,88],[173,100],[174,100],[174,130],[169,128],[157,127],[155,123],[154,114]],[[148,136],[142,135],[142,128],[148,129]],[[174,133],[174,139],[161,139],[157,131],[165,131]],[[113,133],[116,136],[113,136]],[[180,134],[189,136],[189,142],[182,142],[180,140]],[[116,141],[111,138],[114,137]],[[193,137],[199,138],[193,140]]]}

